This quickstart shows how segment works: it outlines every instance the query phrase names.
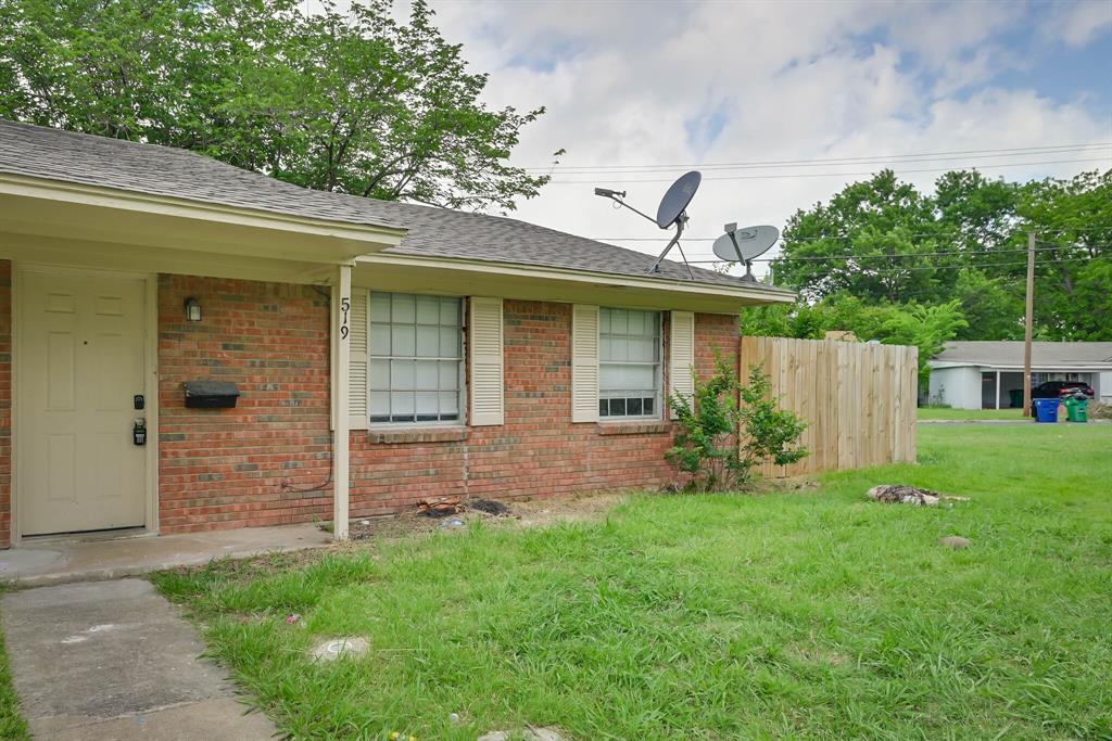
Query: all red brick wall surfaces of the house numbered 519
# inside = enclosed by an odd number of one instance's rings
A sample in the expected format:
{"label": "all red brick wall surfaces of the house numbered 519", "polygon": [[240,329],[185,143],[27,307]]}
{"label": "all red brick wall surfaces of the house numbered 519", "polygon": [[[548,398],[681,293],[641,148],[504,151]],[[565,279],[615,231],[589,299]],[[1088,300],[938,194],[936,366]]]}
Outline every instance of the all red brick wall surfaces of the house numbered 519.
{"label": "all red brick wall surfaces of the house numbered 519", "polygon": [[[0,547],[11,529],[10,276],[10,263],[0,261]],[[329,519],[328,299],[308,286],[187,276],[160,277],[158,293],[160,531]],[[185,320],[187,297],[200,301],[202,321]],[[506,301],[505,425],[354,431],[353,515],[435,495],[549,495],[673,481],[663,462],[669,424],[605,434],[615,428],[572,423],[570,330],[570,304]],[[695,339],[696,368],[708,373],[715,347],[737,357],[737,320],[697,314]],[[238,383],[238,407],[186,409],[182,383],[201,379]],[[296,491],[312,488],[319,490]]]}

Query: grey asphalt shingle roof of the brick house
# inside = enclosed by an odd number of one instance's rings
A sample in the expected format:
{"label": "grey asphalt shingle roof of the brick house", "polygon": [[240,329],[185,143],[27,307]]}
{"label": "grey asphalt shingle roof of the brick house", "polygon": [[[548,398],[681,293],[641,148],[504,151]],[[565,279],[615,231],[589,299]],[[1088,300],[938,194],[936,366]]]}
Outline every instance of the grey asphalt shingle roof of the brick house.
{"label": "grey asphalt shingle roof of the brick house", "polygon": [[[646,277],[655,258],[517,219],[308,190],[181,149],[0,120],[0,172],[294,217],[408,230],[391,254]],[[662,233],[662,246],[666,237]],[[747,288],[692,267],[701,283]],[[656,277],[687,279],[664,261]]]}

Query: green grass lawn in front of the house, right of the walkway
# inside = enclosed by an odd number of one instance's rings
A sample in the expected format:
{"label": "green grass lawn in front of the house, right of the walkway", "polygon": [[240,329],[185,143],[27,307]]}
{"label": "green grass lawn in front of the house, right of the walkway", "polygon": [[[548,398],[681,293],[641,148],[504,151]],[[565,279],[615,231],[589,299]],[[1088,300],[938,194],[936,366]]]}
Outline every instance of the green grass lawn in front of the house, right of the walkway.
{"label": "green grass lawn in front of the house, right of the walkway", "polygon": [[[296,738],[1112,738],[1112,427],[923,428],[920,459],[155,581]],[[340,635],[369,654],[306,659]]]}

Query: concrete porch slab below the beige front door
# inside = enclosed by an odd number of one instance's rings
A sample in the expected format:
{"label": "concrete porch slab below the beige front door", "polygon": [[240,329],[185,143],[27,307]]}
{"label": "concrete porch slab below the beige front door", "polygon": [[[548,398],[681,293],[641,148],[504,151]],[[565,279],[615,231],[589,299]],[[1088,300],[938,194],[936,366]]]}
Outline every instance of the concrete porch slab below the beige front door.
{"label": "concrete porch slab below the beige front door", "polygon": [[241,528],[180,535],[23,541],[0,551],[0,581],[42,587],[135,577],[212,559],[319,548],[331,535],[312,524]]}

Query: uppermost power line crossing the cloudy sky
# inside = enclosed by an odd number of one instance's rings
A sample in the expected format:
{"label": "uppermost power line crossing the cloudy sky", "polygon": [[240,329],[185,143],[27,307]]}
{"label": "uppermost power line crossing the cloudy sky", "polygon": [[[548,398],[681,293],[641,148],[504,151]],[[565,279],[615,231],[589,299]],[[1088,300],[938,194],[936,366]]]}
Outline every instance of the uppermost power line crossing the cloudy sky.
{"label": "uppermost power line crossing the cloudy sky", "polygon": [[555,171],[566,173],[566,174],[636,174],[642,172],[667,172],[677,170],[689,170],[693,168],[701,168],[704,170],[752,170],[752,169],[772,169],[772,168],[787,168],[787,167],[823,167],[826,164],[883,164],[886,162],[895,162],[906,164],[907,162],[940,162],[953,159],[960,159],[961,157],[967,154],[975,154],[977,157],[1031,157],[1036,154],[1066,154],[1070,152],[1084,152],[1091,149],[1106,149],[1112,147],[1112,142],[1099,142],[1094,144],[1061,144],[1056,147],[1029,147],[1020,148],[1013,150],[1000,150],[1000,149],[985,149],[985,150],[966,150],[963,152],[954,153],[923,153],[923,154],[892,154],[892,156],[875,156],[875,157],[843,157],[843,158],[828,158],[828,159],[810,159],[810,160],[771,160],[771,161],[755,161],[755,162],[715,162],[707,164],[595,164],[595,166],[562,166],[559,163],[549,164],[547,167],[538,168],[524,168],[525,170],[545,172],[549,173]]}

